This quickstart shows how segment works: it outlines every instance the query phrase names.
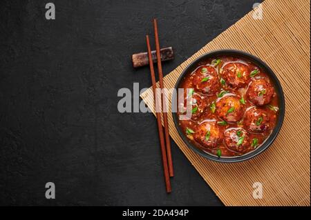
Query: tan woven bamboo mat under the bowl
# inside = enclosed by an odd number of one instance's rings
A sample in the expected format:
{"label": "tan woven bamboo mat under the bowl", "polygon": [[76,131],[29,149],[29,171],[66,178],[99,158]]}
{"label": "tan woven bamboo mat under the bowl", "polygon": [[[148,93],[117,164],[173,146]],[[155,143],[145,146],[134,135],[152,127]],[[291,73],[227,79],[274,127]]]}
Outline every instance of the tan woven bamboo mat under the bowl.
{"label": "tan woven bamboo mat under the bowl", "polygon": [[[266,0],[261,7],[263,19],[254,19],[254,10],[249,12],[167,74],[164,86],[174,88],[182,70],[206,52],[232,48],[254,54],[274,70],[283,86],[285,120],[276,141],[254,159],[224,164],[189,150],[171,112],[169,130],[226,206],[310,206],[310,1]],[[151,88],[141,97],[154,113]],[[263,199],[253,198],[254,182],[263,184]]]}

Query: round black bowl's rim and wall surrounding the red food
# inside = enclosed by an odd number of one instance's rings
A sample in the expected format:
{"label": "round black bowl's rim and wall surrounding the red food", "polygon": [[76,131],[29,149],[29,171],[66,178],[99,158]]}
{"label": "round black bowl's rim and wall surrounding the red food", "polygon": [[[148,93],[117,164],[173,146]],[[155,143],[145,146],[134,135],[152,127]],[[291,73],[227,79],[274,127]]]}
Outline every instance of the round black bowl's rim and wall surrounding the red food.
{"label": "round black bowl's rim and wall surrounding the red food", "polygon": [[[217,157],[216,155],[209,154],[207,152],[204,152],[196,148],[196,146],[194,146],[191,142],[189,142],[185,134],[183,134],[180,126],[178,125],[178,115],[176,112],[173,112],[173,120],[174,120],[176,129],[178,130],[178,133],[180,137],[182,138],[182,140],[185,141],[187,146],[191,150],[194,150],[194,152],[196,152],[197,154],[200,154],[202,157],[206,157],[207,159],[210,159],[212,161],[226,162],[226,163],[241,162],[247,159],[251,159],[252,157],[255,157],[256,155],[266,150],[273,143],[274,139],[276,139],[276,136],[279,134],[279,131],[283,123],[284,114],[285,114],[285,99],[284,99],[283,89],[282,89],[279,79],[276,77],[276,75],[271,70],[271,68],[267,66],[267,64],[263,62],[261,59],[258,59],[258,57],[255,57],[252,54],[239,51],[239,50],[215,50],[207,54],[203,54],[202,56],[194,60],[192,63],[190,63],[189,66],[187,66],[187,68],[185,68],[182,74],[180,74],[180,77],[178,78],[178,81],[176,83],[176,86],[175,86],[176,91],[178,90],[180,86],[180,82],[185,77],[185,75],[188,74],[189,72],[192,72],[197,67],[200,61],[203,61],[208,58],[218,57],[218,56],[232,56],[232,57],[241,57],[241,58],[247,59],[251,61],[252,63],[256,64],[259,68],[262,68],[263,70],[265,70],[267,74],[269,74],[270,79],[272,83],[274,84],[274,90],[279,97],[279,115],[278,115],[278,119],[276,122],[276,126],[274,127],[274,130],[272,130],[270,137],[268,137],[267,140],[260,147],[256,148],[252,152],[248,152],[247,154],[243,154],[241,156],[236,156],[236,157]],[[172,103],[177,103],[176,93],[173,94]]]}

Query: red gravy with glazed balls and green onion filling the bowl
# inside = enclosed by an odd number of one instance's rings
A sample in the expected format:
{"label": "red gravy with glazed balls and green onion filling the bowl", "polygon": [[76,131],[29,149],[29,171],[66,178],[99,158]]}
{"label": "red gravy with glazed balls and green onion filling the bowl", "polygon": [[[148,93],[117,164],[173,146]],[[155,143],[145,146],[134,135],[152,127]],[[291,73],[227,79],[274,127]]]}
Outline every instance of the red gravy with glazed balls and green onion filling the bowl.
{"label": "red gravy with glazed balls and green onion filling the bowl", "polygon": [[[279,112],[274,85],[247,59],[201,61],[179,88],[184,88],[178,93],[184,101],[177,112],[179,126],[200,150],[218,157],[240,156],[260,148],[274,129]],[[181,120],[187,110],[191,117]]]}

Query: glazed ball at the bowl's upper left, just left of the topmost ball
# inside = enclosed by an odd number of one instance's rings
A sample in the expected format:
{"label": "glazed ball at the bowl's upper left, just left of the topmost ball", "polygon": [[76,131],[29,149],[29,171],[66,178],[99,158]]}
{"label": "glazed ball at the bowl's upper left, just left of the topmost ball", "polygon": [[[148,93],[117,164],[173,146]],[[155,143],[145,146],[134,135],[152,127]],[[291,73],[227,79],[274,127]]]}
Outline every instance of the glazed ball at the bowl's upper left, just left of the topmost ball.
{"label": "glazed ball at the bowl's upper left, just left of the topmost ball", "polygon": [[193,82],[198,92],[213,95],[220,88],[217,72],[212,66],[201,66],[194,72],[193,77]]}

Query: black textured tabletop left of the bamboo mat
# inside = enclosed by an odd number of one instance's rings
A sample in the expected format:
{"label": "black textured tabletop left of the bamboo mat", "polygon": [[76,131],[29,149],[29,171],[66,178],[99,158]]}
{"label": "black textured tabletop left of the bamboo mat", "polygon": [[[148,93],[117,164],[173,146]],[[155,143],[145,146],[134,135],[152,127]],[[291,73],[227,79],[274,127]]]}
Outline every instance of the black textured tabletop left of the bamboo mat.
{"label": "black textured tabletop left of the bamboo mat", "polygon": [[156,119],[117,112],[117,90],[151,85],[130,57],[153,17],[176,52],[168,73],[256,1],[57,0],[46,20],[48,2],[0,3],[0,205],[221,205],[173,141],[166,194]]}

